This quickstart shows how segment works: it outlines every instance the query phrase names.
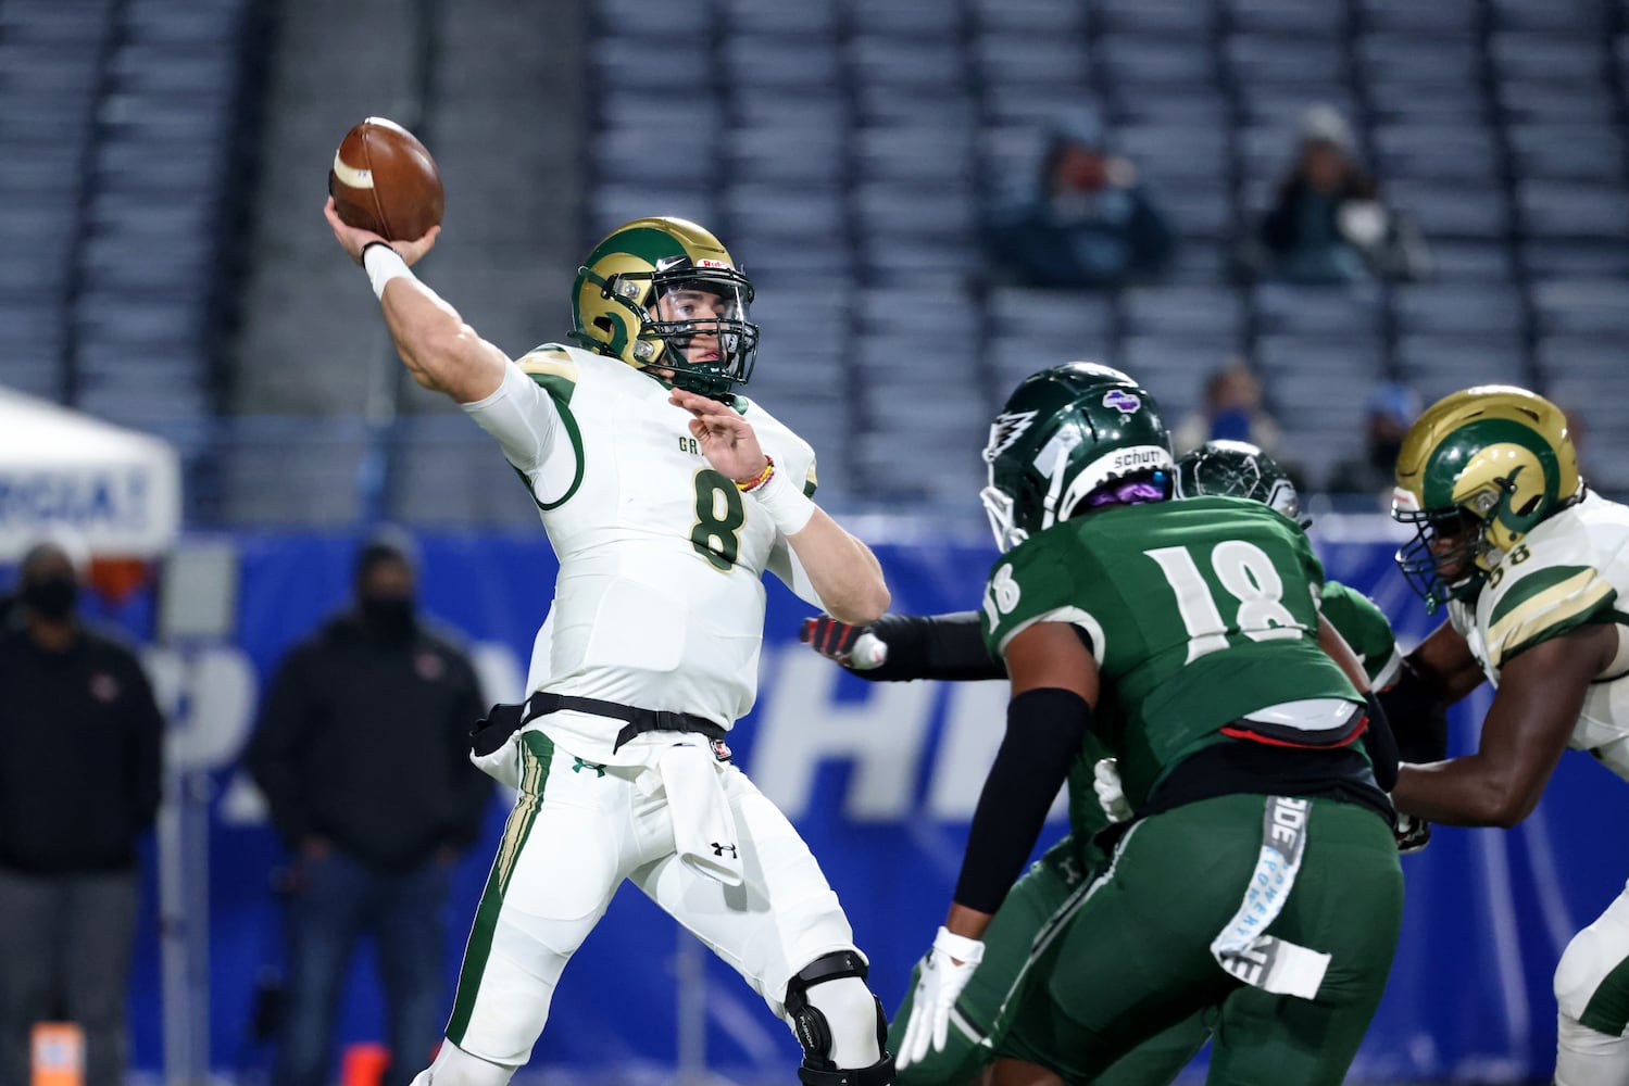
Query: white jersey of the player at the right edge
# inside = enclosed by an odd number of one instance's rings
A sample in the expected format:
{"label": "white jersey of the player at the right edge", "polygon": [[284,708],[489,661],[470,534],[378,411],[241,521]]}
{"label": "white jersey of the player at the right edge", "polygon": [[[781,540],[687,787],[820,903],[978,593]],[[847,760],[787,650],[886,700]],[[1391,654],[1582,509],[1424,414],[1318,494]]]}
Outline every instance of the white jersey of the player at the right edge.
{"label": "white jersey of the player at the right edge", "polygon": [[1489,682],[1505,659],[1587,622],[1616,622],[1618,658],[1590,685],[1567,746],[1629,780],[1629,506],[1585,493],[1504,557],[1474,607],[1448,604]]}

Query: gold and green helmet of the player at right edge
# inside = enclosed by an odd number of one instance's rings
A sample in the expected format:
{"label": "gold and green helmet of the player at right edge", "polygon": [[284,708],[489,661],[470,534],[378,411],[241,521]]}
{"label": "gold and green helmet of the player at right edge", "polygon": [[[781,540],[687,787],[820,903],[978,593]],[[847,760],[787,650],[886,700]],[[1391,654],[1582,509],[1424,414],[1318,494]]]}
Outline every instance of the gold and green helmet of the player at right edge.
{"label": "gold and green helmet of the player at right edge", "polygon": [[1582,490],[1559,407],[1507,384],[1455,392],[1414,422],[1398,453],[1391,516],[1417,526],[1398,567],[1430,611],[1473,599],[1504,557]]}

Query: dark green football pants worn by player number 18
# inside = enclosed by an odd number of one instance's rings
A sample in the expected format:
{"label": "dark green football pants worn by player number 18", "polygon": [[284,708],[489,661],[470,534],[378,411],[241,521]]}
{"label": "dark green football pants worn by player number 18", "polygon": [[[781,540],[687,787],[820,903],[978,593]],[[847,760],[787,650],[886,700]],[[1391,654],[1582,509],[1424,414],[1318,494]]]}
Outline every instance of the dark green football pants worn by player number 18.
{"label": "dark green football pants worn by player number 18", "polygon": [[1311,801],[1300,873],[1266,933],[1331,959],[1313,998],[1272,995],[1210,952],[1256,874],[1266,804],[1220,796],[1132,827],[1062,933],[1036,944],[999,1055],[1095,1083],[1142,1042],[1209,1011],[1218,1023],[1212,1086],[1339,1086],[1391,972],[1396,845],[1372,811]]}

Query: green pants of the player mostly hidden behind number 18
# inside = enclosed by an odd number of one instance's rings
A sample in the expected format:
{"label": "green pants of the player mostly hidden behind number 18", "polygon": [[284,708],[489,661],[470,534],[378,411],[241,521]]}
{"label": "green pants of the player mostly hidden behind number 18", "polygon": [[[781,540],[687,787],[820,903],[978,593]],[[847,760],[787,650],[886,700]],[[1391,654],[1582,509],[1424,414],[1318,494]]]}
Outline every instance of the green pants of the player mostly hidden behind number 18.
{"label": "green pants of the player mostly hidden behind number 18", "polygon": [[[1064,837],[1030,866],[984,933],[984,961],[956,1000],[945,1049],[929,1052],[920,1063],[898,1071],[898,1086],[968,1086],[976,1081],[979,1071],[995,1058],[995,1049],[1012,1027],[1018,1011],[1018,1001],[1012,996],[1030,966],[1036,935],[1067,913],[1070,899],[1078,897],[1090,878],[1098,874],[1093,866],[1101,866],[1100,858],[1082,855],[1074,837]],[[889,1052],[899,1052],[904,1040],[917,972],[911,972],[911,987],[894,1011],[888,1031]],[[1176,1078],[1209,1037],[1210,1029],[1196,1014],[1137,1045],[1091,1083],[1163,1086]]]}

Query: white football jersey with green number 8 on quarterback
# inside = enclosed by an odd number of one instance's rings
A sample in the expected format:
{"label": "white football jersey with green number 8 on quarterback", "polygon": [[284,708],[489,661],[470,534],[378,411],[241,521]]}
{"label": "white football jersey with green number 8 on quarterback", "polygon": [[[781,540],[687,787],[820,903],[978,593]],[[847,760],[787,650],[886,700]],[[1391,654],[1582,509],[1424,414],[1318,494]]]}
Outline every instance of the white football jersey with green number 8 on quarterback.
{"label": "white football jersey with green number 8 on quarterback", "polygon": [[[808,443],[746,397],[764,453],[814,488]],[[492,433],[542,516],[560,571],[529,690],[694,713],[730,728],[757,694],[764,570],[819,606],[785,536],[714,471],[668,388],[614,358],[546,344],[464,409]],[[573,754],[611,760],[621,725],[555,713]],[[640,744],[642,746],[642,744]],[[616,759],[624,760],[624,759]]]}

